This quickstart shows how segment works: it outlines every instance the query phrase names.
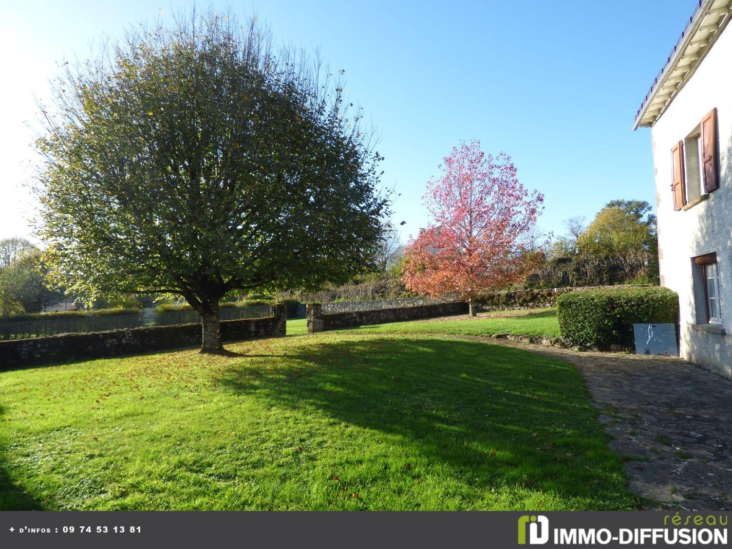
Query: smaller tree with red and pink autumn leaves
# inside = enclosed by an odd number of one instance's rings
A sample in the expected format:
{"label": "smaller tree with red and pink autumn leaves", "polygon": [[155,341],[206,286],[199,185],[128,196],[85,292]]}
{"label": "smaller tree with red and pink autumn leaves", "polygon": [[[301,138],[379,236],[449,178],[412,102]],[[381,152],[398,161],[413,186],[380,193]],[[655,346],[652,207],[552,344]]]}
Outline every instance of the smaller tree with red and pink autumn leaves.
{"label": "smaller tree with red and pink autumn leaves", "polygon": [[479,141],[454,147],[423,202],[433,224],[408,243],[402,280],[408,290],[468,301],[522,280],[537,267],[532,230],[544,196],[529,193],[508,155],[496,158]]}

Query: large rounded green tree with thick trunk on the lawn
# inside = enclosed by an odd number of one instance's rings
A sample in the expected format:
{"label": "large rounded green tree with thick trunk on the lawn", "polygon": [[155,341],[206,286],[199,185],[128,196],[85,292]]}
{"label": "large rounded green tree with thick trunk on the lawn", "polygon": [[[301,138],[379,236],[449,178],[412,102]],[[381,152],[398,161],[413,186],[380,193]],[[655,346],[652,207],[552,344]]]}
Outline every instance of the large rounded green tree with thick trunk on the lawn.
{"label": "large rounded green tree with thick trunk on the lawn", "polygon": [[354,276],[387,206],[340,79],[215,12],[66,65],[39,141],[55,279],[75,294],[182,295],[201,351],[219,352],[225,293]]}

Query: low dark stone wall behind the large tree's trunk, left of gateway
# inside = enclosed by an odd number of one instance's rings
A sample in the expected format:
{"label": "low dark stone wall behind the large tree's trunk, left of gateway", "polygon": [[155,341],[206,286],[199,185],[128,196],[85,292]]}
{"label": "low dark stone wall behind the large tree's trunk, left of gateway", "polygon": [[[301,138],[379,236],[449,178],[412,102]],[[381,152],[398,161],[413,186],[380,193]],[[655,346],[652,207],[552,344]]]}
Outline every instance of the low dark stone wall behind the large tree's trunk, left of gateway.
{"label": "low dark stone wall behind the large tree's trunk, left of gateway", "polygon": [[[223,320],[224,342],[285,335],[285,306],[275,305],[274,316]],[[89,358],[105,358],[150,351],[195,347],[201,344],[201,324],[131,328],[94,334],[66,334],[0,342],[0,370]]]}

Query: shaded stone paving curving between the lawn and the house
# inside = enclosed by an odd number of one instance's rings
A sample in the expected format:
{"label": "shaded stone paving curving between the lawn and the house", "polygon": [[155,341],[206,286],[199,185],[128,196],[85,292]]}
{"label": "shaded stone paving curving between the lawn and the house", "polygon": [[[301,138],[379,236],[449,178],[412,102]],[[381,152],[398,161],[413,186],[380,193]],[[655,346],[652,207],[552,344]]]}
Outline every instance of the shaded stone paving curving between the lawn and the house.
{"label": "shaded stone paving curving between the lawn and the house", "polygon": [[732,380],[680,358],[455,337],[575,364],[635,493],[660,509],[732,510]]}

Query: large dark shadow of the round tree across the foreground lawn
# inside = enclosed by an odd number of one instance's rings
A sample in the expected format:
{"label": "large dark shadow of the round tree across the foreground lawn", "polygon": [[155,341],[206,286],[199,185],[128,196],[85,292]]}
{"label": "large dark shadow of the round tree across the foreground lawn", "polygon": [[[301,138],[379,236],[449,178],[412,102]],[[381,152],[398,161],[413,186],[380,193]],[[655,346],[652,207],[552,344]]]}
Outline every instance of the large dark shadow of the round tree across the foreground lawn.
{"label": "large dark shadow of the round tree across the foreground lawn", "polygon": [[[620,460],[570,364],[444,339],[381,337],[292,350],[275,365],[234,366],[217,383],[269,405],[305,406],[397,435],[406,452],[479,489],[543,490],[601,509],[633,505]],[[258,383],[247,383],[252,378]]]}

